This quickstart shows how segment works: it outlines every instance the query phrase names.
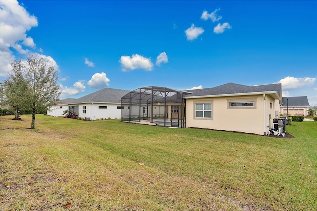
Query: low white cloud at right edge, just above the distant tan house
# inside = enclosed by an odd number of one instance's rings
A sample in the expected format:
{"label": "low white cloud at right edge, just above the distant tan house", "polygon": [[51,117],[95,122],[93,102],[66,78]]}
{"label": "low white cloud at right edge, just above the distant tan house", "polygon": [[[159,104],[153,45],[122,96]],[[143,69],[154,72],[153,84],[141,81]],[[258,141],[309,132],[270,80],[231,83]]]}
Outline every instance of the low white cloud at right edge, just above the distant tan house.
{"label": "low white cloud at right edge, just above the distant tan house", "polygon": [[274,84],[281,83],[282,84],[282,90],[294,90],[294,89],[299,89],[304,86],[310,86],[313,85],[316,81],[316,78],[295,78],[295,77],[290,77],[287,76]]}

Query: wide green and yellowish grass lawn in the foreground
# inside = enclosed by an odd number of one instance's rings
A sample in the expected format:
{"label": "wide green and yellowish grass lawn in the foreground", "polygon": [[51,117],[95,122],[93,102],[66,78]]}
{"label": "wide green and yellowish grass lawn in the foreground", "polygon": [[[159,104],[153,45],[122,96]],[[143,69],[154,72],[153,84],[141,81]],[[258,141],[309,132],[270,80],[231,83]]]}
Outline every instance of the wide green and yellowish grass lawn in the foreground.
{"label": "wide green and yellowish grass lawn in the foreground", "polygon": [[295,138],[2,116],[1,210],[316,211],[317,122]]}

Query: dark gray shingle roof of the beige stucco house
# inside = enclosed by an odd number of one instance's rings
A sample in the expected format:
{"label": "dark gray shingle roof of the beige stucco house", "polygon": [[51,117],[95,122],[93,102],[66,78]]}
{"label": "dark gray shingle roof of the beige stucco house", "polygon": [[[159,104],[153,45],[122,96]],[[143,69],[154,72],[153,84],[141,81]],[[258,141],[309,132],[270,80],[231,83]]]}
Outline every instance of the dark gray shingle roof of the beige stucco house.
{"label": "dark gray shingle roof of the beige stucco house", "polygon": [[[187,90],[191,92],[192,90]],[[239,93],[255,93],[276,91],[278,96],[281,97],[281,84],[269,84],[259,86],[246,86],[235,83],[227,83],[213,88],[205,88],[195,90],[194,93],[186,95],[186,97],[210,96],[210,95],[226,95],[226,94],[239,94]]]}

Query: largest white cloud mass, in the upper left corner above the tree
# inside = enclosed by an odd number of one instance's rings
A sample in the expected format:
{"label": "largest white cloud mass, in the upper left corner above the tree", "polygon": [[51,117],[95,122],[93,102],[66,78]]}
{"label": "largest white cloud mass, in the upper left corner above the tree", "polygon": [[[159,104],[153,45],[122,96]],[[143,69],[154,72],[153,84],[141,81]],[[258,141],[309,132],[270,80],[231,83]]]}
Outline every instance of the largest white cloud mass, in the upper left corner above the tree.
{"label": "largest white cloud mass, in the upper left corner above the tree", "polygon": [[26,31],[36,27],[38,21],[16,0],[2,0],[0,8],[0,76],[6,77],[11,70],[10,62],[15,59],[10,48],[15,49],[20,54],[27,54],[29,50],[25,47],[33,49],[36,47],[33,39],[27,36]]}

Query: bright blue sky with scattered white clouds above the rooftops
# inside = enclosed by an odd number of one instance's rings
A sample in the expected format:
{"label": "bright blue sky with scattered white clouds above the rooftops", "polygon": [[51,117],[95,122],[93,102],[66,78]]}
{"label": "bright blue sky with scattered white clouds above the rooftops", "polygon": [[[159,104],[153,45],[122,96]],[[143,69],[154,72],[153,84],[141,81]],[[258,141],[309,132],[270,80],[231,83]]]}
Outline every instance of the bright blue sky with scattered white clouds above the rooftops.
{"label": "bright blue sky with scattered white clouds above the rooftops", "polygon": [[281,83],[317,106],[317,1],[0,1],[0,78],[38,53],[61,99]]}

